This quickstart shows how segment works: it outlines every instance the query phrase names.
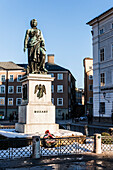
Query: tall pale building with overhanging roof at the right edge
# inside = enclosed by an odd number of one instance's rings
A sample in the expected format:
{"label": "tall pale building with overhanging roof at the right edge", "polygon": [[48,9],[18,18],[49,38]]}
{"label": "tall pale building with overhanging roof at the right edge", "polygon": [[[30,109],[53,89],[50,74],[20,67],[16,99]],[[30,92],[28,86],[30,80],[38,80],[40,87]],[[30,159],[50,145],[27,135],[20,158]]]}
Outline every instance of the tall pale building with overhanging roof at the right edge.
{"label": "tall pale building with overhanging roof at the right edge", "polygon": [[107,121],[113,109],[113,8],[87,24],[92,26],[93,116]]}

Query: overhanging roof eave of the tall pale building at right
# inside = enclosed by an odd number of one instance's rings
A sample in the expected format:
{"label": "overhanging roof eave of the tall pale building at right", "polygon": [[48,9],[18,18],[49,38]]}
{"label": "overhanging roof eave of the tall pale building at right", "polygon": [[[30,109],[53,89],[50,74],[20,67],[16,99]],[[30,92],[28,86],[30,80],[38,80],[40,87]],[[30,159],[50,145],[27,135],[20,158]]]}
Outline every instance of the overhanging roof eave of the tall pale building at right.
{"label": "overhanging roof eave of the tall pale building at right", "polygon": [[102,20],[105,19],[106,17],[113,15],[113,7],[110,8],[109,10],[103,12],[102,14],[98,15],[97,17],[93,18],[92,20],[90,20],[89,22],[87,22],[86,24],[92,26],[94,25],[98,20]]}

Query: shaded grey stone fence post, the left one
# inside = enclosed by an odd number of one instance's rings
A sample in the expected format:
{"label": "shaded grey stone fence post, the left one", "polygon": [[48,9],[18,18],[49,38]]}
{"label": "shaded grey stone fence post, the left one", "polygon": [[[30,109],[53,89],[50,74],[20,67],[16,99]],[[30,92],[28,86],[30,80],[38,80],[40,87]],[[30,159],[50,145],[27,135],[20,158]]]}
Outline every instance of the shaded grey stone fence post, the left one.
{"label": "shaded grey stone fence post, the left one", "polygon": [[32,157],[40,158],[40,136],[33,136],[32,139]]}

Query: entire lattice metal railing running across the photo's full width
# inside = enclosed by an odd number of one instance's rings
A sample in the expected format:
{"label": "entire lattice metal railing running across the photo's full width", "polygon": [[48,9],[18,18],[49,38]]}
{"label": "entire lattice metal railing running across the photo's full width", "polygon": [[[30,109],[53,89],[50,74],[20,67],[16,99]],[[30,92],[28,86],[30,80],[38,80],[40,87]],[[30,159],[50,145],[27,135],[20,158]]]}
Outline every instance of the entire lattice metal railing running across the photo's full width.
{"label": "entire lattice metal railing running across the photo's full width", "polygon": [[[101,136],[101,135],[100,135]],[[63,137],[52,139],[40,139],[39,154],[40,156],[55,155],[72,155],[85,152],[94,152],[98,147],[95,144],[96,138],[80,136],[80,137]],[[113,151],[113,136],[97,137],[100,139],[102,152]],[[37,141],[35,141],[35,146]],[[14,159],[33,156],[34,143],[32,138],[9,138],[0,139],[0,159]],[[36,147],[37,148],[37,147]],[[37,150],[36,150],[37,152]],[[35,152],[35,153],[36,153]]]}

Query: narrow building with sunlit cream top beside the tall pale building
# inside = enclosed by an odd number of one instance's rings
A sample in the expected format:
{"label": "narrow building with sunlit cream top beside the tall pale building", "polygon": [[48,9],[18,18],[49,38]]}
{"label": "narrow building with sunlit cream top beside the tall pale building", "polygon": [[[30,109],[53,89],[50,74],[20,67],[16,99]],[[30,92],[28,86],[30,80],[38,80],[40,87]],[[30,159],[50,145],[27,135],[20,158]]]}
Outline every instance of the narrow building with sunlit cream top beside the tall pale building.
{"label": "narrow building with sunlit cream top beside the tall pale building", "polygon": [[83,66],[85,114],[93,115],[93,59],[84,58]]}

